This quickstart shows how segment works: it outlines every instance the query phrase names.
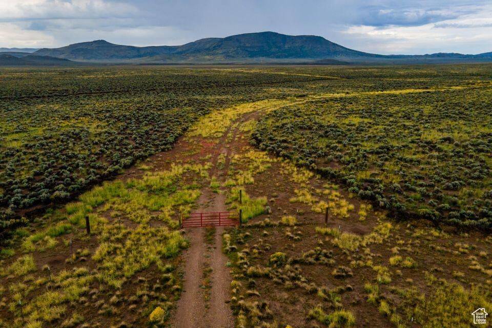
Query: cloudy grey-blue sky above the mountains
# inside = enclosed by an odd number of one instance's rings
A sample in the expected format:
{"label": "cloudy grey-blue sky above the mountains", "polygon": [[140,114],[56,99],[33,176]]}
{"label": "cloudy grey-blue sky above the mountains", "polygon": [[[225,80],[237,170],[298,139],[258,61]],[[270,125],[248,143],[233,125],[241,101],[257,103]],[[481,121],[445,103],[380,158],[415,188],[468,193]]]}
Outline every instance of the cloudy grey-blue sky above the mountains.
{"label": "cloudy grey-blue sky above the mountains", "polygon": [[275,31],[381,54],[492,51],[492,0],[0,0],[0,47],[180,45]]}

